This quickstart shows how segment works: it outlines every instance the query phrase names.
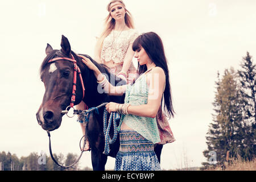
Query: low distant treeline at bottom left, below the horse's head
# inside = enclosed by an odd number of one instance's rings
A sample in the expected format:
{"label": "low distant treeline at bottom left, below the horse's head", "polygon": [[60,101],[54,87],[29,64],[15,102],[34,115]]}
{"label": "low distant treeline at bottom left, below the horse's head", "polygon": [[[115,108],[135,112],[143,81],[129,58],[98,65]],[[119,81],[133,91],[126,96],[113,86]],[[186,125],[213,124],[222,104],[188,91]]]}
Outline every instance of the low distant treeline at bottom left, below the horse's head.
{"label": "low distant treeline at bottom left, below the horse's head", "polygon": [[[76,159],[76,154],[67,154],[64,157],[63,154],[53,154],[54,158],[62,166],[69,166],[73,164]],[[79,163],[77,163],[72,168],[63,169],[57,166],[51,159],[51,156],[46,154],[38,154],[36,152],[31,152],[28,156],[22,156],[20,159],[16,154],[11,154],[10,152],[2,151],[0,152],[0,170],[2,171],[90,171],[92,169],[85,167],[80,168]]]}

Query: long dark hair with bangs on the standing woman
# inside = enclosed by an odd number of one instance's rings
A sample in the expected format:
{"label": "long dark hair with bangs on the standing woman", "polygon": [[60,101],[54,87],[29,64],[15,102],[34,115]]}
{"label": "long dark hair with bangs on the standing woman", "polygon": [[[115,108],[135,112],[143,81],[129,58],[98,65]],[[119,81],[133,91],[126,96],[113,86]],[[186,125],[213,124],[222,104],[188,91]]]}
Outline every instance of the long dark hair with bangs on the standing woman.
{"label": "long dark hair with bangs on the standing woman", "polygon": [[[160,67],[163,69],[166,74],[166,88],[164,89],[164,110],[166,110],[166,114],[168,117],[174,117],[174,107],[172,106],[172,94],[171,94],[171,85],[169,80],[169,71],[167,65],[166,55],[164,53],[163,42],[161,38],[155,32],[147,32],[142,35],[139,35],[137,39],[134,40],[133,43],[133,51],[143,47],[146,51],[148,57],[155,63],[156,67]],[[141,75],[142,73],[147,71],[147,66],[139,65],[137,73]],[[163,100],[163,97],[162,97]],[[161,102],[162,108],[162,102]],[[161,109],[162,112],[162,109]],[[161,113],[162,114],[162,113]],[[160,117],[160,116],[159,116]]]}

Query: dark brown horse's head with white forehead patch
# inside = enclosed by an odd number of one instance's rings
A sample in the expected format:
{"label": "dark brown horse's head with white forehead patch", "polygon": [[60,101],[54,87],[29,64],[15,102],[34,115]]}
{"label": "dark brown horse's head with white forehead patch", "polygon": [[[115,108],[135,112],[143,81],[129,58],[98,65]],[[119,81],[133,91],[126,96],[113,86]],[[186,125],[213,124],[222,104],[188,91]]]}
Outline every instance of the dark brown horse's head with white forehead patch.
{"label": "dark brown horse's head with white forehead patch", "polygon": [[[75,65],[72,61],[65,59],[56,60],[56,58],[65,57],[72,60],[72,56],[75,56],[75,59],[79,59],[72,53],[71,46],[65,36],[62,36],[60,50],[53,50],[47,44],[47,56],[40,70],[41,80],[44,83],[46,91],[43,102],[36,113],[38,123],[44,130],[52,131],[59,128],[64,115],[61,111],[65,110],[71,104]],[[79,104],[82,100],[83,92],[78,74],[76,90],[75,105]]]}

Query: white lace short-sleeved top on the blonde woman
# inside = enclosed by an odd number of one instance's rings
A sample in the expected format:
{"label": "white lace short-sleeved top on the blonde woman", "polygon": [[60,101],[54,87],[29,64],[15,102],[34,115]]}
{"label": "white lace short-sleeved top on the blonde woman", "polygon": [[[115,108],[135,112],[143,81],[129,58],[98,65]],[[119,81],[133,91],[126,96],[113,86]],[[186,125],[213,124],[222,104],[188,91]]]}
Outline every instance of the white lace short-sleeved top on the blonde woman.
{"label": "white lace short-sleeved top on the blonde woman", "polygon": [[134,29],[112,30],[102,44],[101,60],[106,62],[113,60],[115,63],[122,63],[129,44],[132,44],[137,37],[138,32]]}

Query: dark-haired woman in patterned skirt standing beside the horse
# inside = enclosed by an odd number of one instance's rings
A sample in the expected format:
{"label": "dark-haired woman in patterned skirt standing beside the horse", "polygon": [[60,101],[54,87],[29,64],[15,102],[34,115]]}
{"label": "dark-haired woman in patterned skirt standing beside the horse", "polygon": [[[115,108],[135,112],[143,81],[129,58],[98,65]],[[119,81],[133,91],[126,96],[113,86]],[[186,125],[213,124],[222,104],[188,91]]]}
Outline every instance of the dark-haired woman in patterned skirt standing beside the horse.
{"label": "dark-haired woman in patterned skirt standing beside the horse", "polygon": [[110,95],[125,95],[125,104],[110,102],[106,109],[122,115],[118,127],[120,148],[115,170],[160,170],[154,144],[160,142],[156,115],[164,108],[174,117],[167,59],[163,43],[154,32],[142,34],[133,43],[138,59],[139,76],[133,84],[113,86],[98,68],[84,56],[86,66],[93,70],[98,83]]}

